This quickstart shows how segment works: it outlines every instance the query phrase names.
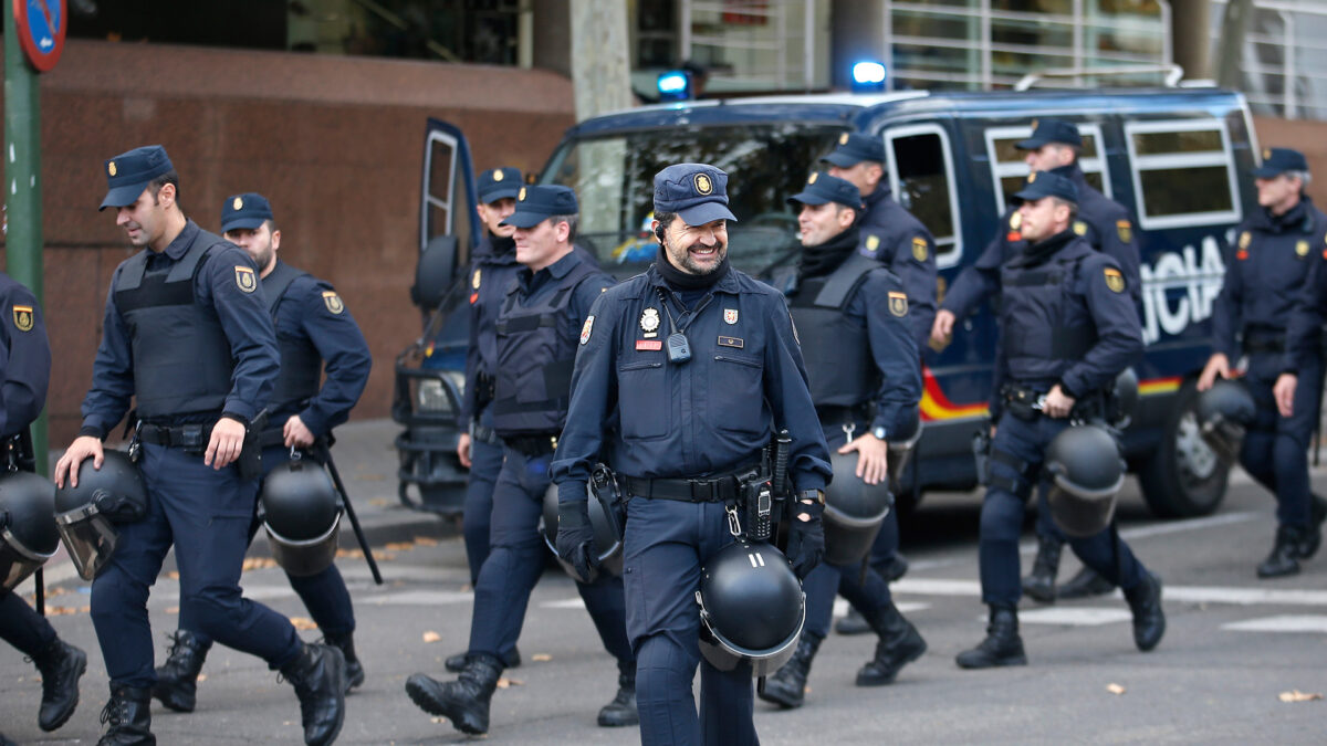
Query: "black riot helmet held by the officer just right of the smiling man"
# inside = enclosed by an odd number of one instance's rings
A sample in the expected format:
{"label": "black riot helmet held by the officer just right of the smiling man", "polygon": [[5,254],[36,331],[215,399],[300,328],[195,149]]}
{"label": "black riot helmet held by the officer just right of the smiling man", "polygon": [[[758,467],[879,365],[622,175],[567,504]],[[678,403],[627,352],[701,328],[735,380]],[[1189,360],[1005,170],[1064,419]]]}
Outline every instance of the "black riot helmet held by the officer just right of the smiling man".
{"label": "black riot helmet held by the officer just right of the smiling man", "polygon": [[832,453],[829,467],[833,482],[825,487],[825,561],[853,564],[871,551],[894,499],[884,482],[867,485],[857,477],[856,453]]}

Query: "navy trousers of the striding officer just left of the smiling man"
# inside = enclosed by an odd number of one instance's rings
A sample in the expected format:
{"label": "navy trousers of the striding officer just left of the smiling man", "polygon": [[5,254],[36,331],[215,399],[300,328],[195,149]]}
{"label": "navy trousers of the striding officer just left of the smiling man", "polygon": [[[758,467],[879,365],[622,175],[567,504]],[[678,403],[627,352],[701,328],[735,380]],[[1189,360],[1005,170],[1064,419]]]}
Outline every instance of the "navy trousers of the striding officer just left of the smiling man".
{"label": "navy trousers of the striding officer just left of the smiling man", "polygon": [[[475,583],[475,607],[470,620],[470,653],[496,658],[516,645],[525,623],[529,592],[544,572],[544,539],[539,518],[548,491],[548,463],[552,454],[528,457],[506,449],[498,485],[494,488],[492,531],[488,559]],[[576,589],[594,621],[604,648],[629,670],[634,656],[626,641],[622,579],[601,576]]]}

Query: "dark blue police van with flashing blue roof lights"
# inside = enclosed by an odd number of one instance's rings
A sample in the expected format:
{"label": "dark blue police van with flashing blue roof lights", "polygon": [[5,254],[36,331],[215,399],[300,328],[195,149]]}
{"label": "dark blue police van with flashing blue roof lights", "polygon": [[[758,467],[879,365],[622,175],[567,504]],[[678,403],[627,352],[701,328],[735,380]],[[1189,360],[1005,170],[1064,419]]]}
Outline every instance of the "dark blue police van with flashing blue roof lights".
{"label": "dark blue police van with flashing blue roof lights", "polygon": [[[1217,88],[813,94],[644,106],[569,129],[539,183],[580,196],[579,243],[618,277],[654,259],[649,234],[653,177],[670,163],[713,163],[730,174],[733,264],[766,277],[796,263],[798,192],[844,131],[885,146],[896,199],[936,238],[938,297],[997,235],[1009,195],[1027,166],[1014,147],[1039,117],[1078,123],[1087,181],[1133,215],[1141,247],[1144,360],[1140,402],[1125,455],[1151,508],[1164,516],[1208,514],[1221,503],[1230,465],[1201,439],[1194,380],[1210,353],[1212,303],[1223,273],[1221,247],[1257,208],[1250,170],[1258,146],[1249,108]],[[464,368],[463,265],[478,240],[474,175],[464,137],[430,121],[423,155],[418,300],[437,308],[429,329],[398,361],[394,411],[401,496],[439,512],[459,510],[455,408]],[[451,285],[450,292],[441,288]],[[994,360],[990,305],[962,320],[946,348],[926,350],[925,430],[902,475],[902,506],[928,490],[977,486],[973,434],[986,426]],[[718,382],[717,382],[718,385]],[[421,490],[419,500],[409,487]]]}

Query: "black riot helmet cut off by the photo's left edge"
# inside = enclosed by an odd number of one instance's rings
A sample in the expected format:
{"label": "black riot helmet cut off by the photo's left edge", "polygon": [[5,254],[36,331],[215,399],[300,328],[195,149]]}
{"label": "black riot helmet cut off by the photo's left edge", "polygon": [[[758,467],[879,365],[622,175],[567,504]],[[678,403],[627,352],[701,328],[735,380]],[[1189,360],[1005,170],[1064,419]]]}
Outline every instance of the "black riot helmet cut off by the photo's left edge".
{"label": "black riot helmet cut off by the photo's left edge", "polygon": [[28,471],[0,475],[0,588],[13,591],[60,547],[56,486]]}

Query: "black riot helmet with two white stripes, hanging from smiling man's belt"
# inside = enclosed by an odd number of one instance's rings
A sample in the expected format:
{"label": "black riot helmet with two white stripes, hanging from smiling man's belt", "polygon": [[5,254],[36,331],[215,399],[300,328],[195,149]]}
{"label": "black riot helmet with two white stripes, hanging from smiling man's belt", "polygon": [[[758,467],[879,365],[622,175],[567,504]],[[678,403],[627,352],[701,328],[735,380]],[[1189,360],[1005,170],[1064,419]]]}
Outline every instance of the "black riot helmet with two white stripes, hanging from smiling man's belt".
{"label": "black riot helmet with two white stripes, hanging from smiling man's belt", "polygon": [[701,654],[719,670],[743,661],[760,677],[788,662],[807,621],[807,596],[783,552],[739,539],[701,568]]}

